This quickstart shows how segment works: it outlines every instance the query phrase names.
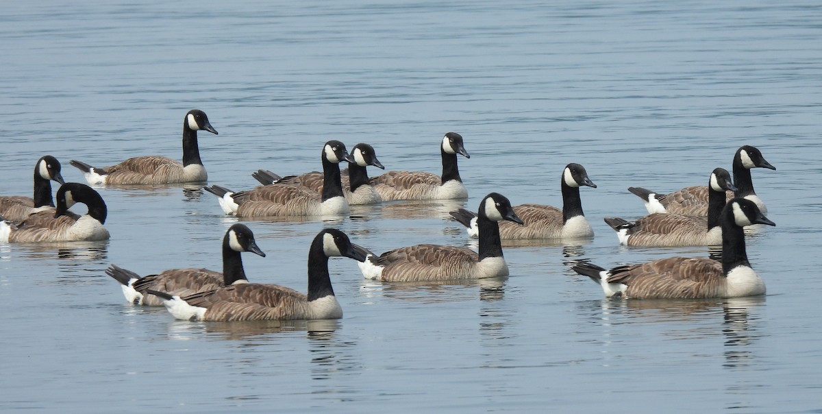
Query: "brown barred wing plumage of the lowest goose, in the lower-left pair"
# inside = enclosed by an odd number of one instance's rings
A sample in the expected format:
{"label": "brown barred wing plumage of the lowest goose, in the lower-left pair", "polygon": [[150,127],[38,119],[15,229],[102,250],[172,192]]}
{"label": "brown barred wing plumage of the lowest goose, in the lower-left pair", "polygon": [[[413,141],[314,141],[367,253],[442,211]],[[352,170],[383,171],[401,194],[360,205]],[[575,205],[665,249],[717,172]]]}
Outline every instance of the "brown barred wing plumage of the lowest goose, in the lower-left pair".
{"label": "brown barred wing plumage of the lowest goose, in the lower-left pair", "polygon": [[182,298],[206,310],[205,320],[304,319],[307,297],[285,286],[242,283]]}

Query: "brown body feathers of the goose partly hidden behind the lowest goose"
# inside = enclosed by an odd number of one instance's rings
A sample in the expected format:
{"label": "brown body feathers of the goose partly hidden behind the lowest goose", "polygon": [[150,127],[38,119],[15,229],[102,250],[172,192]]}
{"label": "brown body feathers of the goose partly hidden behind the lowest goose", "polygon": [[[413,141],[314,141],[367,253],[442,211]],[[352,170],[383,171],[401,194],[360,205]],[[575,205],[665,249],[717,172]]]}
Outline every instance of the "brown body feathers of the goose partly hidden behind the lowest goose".
{"label": "brown body feathers of the goose partly hidden behind the lowest goose", "polygon": [[156,275],[141,277],[132,284],[135,291],[143,294],[143,305],[149,306],[163,305],[163,300],[159,297],[147,295],[146,291],[149,289],[183,297],[219,287],[223,287],[223,273],[197,268],[169,269]]}

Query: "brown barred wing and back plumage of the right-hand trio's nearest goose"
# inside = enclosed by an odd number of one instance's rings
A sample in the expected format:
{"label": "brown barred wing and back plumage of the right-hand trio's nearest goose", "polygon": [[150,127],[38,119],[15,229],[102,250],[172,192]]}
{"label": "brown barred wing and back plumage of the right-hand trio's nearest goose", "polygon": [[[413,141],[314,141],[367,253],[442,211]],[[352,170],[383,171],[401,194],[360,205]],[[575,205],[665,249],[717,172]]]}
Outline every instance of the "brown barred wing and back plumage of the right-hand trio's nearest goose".
{"label": "brown barred wing and back plumage of the right-hand trio's nearest goose", "polygon": [[611,269],[608,283],[628,286],[629,298],[670,299],[720,297],[722,263],[711,258],[663,258]]}

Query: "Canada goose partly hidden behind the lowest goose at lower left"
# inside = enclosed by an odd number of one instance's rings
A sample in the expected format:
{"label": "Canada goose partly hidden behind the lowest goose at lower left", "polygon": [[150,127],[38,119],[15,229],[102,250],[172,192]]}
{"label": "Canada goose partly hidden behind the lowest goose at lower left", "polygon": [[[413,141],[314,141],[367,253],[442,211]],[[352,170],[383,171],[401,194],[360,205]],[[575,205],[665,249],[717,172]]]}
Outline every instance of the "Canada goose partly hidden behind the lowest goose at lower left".
{"label": "Canada goose partly hidden behind the lowest goose at lower left", "polygon": [[140,277],[130,270],[112,264],[105,273],[122,285],[122,294],[135,305],[160,306],[163,301],[149,295],[149,289],[171,295],[187,296],[201,291],[211,291],[222,286],[248,283],[242,268],[240,252],[252,252],[266,257],[257,247],[254,233],[240,223],[229,227],[223,237],[223,272],[208,269],[185,268],[164,270],[156,275]]}

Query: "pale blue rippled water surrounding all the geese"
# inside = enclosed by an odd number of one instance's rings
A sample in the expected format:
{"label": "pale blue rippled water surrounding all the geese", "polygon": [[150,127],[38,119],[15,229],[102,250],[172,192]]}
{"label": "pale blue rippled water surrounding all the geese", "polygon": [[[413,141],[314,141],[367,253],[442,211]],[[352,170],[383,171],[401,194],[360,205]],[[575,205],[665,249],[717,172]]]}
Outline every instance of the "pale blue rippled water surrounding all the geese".
{"label": "pale blue rippled water surrounding all the geese", "polygon": [[[344,318],[189,323],[124,303],[109,263],[220,269],[237,219],[201,190],[98,188],[105,243],[0,245],[2,412],[822,412],[819,2],[7,2],[0,12],[2,194],[35,160],[180,157],[203,109],[210,183],[319,169],[323,142],[388,170],[440,170],[461,133],[467,206],[491,191],[561,203],[583,164],[596,238],[508,247],[498,281],[363,281],[330,262]],[[604,300],[570,271],[707,249],[627,249],[603,216],[730,170],[743,144],[777,223],[748,240],[768,295]],[[377,174],[376,171],[371,171]],[[306,289],[323,226],[376,251],[469,245],[462,202],[355,208],[344,221],[245,221],[252,281]],[[84,207],[78,206],[81,212]]]}

